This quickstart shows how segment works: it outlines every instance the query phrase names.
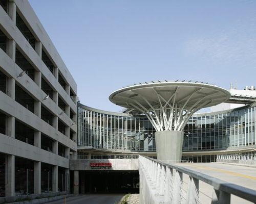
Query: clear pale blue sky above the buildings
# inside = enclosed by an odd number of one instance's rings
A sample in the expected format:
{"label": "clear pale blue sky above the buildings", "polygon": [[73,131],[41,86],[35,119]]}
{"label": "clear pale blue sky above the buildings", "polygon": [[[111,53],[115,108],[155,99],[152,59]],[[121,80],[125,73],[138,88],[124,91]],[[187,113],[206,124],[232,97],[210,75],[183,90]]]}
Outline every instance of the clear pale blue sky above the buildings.
{"label": "clear pale blue sky above the buildings", "polygon": [[29,0],[72,73],[82,104],[136,82],[256,85],[256,1]]}

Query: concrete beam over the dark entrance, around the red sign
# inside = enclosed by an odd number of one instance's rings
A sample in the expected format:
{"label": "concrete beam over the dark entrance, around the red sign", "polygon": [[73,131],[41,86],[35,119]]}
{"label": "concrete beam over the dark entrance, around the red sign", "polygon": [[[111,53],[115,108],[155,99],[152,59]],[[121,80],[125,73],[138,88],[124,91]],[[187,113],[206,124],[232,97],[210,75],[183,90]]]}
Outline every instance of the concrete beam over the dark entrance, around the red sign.
{"label": "concrete beam over the dark entrance, around the red sign", "polygon": [[93,170],[90,163],[112,163],[111,169],[106,170],[138,170],[138,159],[91,159],[70,160],[70,170]]}

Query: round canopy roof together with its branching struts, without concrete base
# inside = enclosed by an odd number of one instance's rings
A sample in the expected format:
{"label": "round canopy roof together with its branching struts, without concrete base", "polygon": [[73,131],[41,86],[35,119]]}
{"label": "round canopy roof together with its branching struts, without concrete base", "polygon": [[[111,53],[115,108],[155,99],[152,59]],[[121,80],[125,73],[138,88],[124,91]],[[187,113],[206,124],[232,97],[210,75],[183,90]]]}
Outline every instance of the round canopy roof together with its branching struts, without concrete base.
{"label": "round canopy roof together with its branching struts, without concrete base", "polygon": [[156,131],[182,131],[196,111],[223,103],[229,91],[201,82],[139,83],[113,92],[112,103],[147,116]]}

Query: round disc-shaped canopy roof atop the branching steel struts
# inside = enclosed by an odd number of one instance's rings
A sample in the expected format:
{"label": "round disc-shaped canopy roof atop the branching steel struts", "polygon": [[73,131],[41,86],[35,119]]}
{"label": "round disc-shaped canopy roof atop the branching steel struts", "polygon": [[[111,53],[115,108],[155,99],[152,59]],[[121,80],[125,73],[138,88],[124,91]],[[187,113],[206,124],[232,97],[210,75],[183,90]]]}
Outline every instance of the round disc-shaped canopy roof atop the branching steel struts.
{"label": "round disc-shaped canopy roof atop the branching steel struts", "polygon": [[109,99],[127,109],[135,109],[133,104],[136,104],[151,110],[152,107],[159,107],[162,101],[183,110],[197,110],[223,103],[229,97],[229,91],[216,85],[177,80],[134,84],[114,91]]}

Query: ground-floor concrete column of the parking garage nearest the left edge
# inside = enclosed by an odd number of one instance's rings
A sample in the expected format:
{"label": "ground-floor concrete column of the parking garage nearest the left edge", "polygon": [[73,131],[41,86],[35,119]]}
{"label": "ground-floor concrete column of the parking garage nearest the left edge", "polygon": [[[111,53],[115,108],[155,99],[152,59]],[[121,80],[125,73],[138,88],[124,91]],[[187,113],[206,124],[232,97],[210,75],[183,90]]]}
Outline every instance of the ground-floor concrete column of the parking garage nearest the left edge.
{"label": "ground-floor concrete column of the parking garage nearest the left edge", "polygon": [[15,195],[15,156],[6,156],[5,192],[6,197]]}

